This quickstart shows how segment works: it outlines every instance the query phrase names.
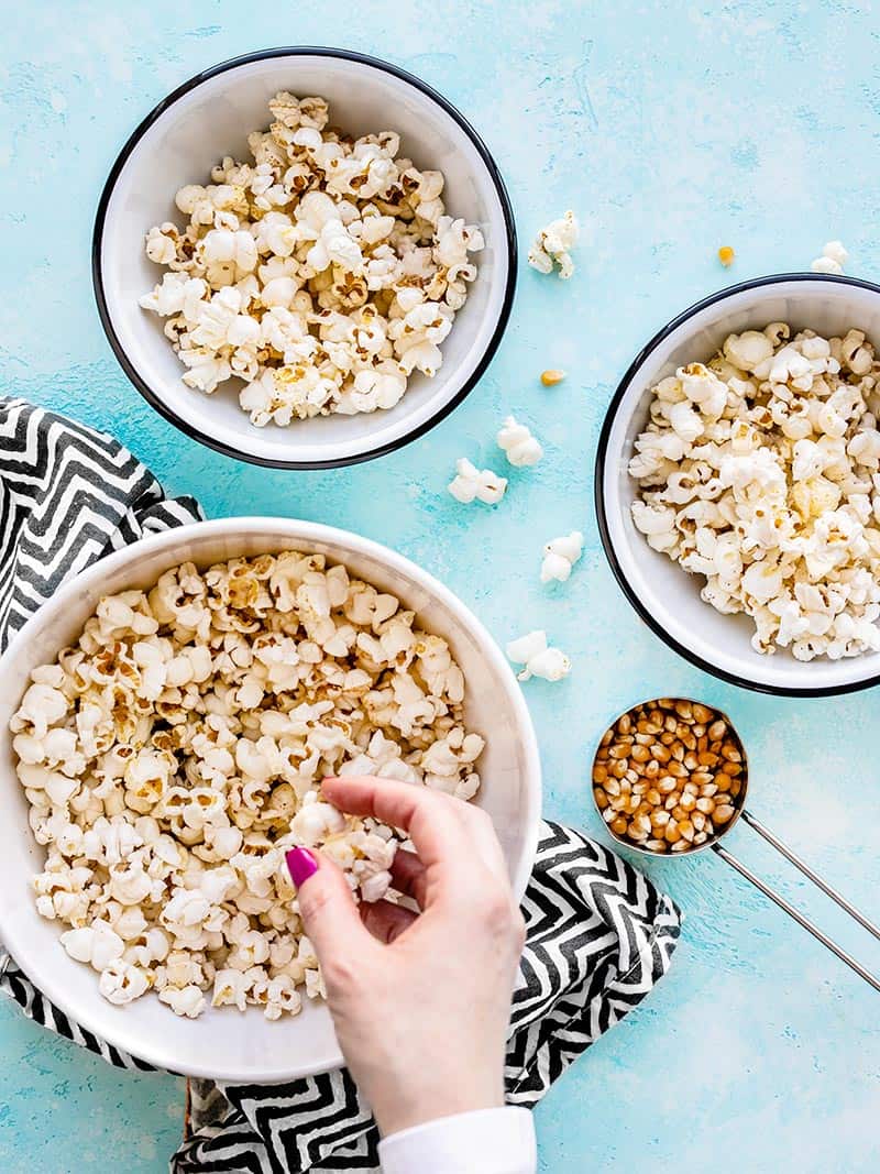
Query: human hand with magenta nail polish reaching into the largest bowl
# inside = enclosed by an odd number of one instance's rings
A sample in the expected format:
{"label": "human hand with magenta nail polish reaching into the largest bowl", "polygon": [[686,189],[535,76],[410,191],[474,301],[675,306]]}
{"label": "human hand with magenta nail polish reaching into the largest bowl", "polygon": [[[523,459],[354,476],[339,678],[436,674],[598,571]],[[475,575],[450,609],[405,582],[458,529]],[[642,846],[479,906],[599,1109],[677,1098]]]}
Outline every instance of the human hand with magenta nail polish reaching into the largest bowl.
{"label": "human hand with magenta nail polish reaching into the largest bowl", "polygon": [[324,798],[404,829],[394,886],[420,913],[354,904],[333,862],[287,852],[337,1037],[384,1135],[503,1105],[505,1043],[524,925],[489,817],[388,778],[327,778]]}

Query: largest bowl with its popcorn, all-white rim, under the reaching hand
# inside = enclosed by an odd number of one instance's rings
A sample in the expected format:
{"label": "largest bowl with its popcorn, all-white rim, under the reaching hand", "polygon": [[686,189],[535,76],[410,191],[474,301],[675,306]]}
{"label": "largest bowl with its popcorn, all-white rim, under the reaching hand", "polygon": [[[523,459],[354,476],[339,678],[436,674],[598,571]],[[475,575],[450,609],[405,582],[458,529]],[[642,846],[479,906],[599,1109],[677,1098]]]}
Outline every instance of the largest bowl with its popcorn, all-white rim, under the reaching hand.
{"label": "largest bowl with its popcorn, all-white rim, under the reaching hand", "polygon": [[479,804],[517,898],[537,843],[501,652],[424,571],[310,522],[187,526],[62,587],[0,660],[0,940],[87,1031],[194,1075],[341,1064],[284,853],[397,900],[406,838],[324,802],[324,777]]}

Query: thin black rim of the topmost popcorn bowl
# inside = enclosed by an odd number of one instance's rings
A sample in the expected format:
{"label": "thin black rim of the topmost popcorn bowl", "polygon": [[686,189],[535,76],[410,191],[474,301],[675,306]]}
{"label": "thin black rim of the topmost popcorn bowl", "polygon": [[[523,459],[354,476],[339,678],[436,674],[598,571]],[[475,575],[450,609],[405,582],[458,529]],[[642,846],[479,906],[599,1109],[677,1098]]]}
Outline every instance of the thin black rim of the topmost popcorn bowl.
{"label": "thin black rim of the topmost popcorn bowl", "polygon": [[[337,457],[330,460],[275,460],[269,457],[257,457],[251,453],[242,452],[239,448],[231,447],[230,445],[222,444],[214,437],[201,432],[198,429],[192,427],[185,420],[182,420],[177,413],[163,403],[162,399],[153,391],[150,385],[140,375],[135,365],[130,362],[128,355],[126,353],[122,344],[120,343],[116,331],[113,328],[113,322],[110,321],[110,315],[107,306],[107,298],[104,295],[103,286],[103,274],[101,266],[101,243],[104,232],[104,221],[107,217],[107,208],[113,196],[113,191],[116,187],[116,181],[122,173],[123,167],[128,162],[129,156],[133,150],[141,141],[145,131],[153,126],[153,123],[160,119],[165,110],[170,109],[178,99],[183,97],[190,90],[196,89],[203,82],[209,81],[211,77],[216,77],[218,74],[228,73],[231,69],[237,69],[241,66],[251,65],[255,61],[265,61],[272,58],[300,58],[300,56],[319,56],[319,58],[339,58],[345,61],[354,61],[359,65],[372,66],[375,69],[381,69],[384,73],[392,74],[394,77],[399,77],[401,81],[421,90],[427,97],[441,107],[449,117],[465,131],[468,139],[472,141],[476,148],[480,157],[486,164],[486,169],[489,173],[489,177],[495,187],[495,191],[501,203],[501,211],[505,218],[505,231],[507,237],[507,284],[505,288],[505,297],[501,304],[501,310],[499,312],[497,323],[495,325],[494,333],[489,339],[486,350],[476,364],[476,367],[471,373],[465,384],[455,392],[452,399],[444,404],[428,420],[420,424],[418,427],[413,427],[409,432],[404,436],[398,437],[395,440],[388,444],[379,445],[375,448],[370,448],[365,452],[353,453],[348,457]],[[143,396],[147,403],[156,411],[160,416],[164,417],[170,424],[174,424],[176,429],[184,432],[192,440],[197,440],[199,444],[207,445],[209,448],[214,448],[216,452],[223,453],[225,457],[232,457],[236,460],[248,461],[251,465],[262,465],[265,468],[290,468],[290,470],[306,470],[306,468],[341,468],[346,465],[357,465],[365,460],[372,460],[375,457],[384,457],[390,452],[395,452],[398,448],[402,448],[405,445],[411,444],[413,440],[418,440],[419,437],[425,436],[431,429],[433,429],[441,420],[446,419],[451,412],[453,412],[459,404],[473,391],[476,384],[483,376],[487,366],[492,362],[495,351],[499,348],[501,338],[507,329],[507,323],[510,317],[510,309],[513,306],[514,292],[516,289],[516,229],[514,223],[513,208],[510,205],[510,197],[507,194],[507,188],[505,187],[505,181],[501,177],[501,173],[495,163],[486,143],[482,141],[480,135],[474,130],[468,120],[458,110],[452,102],[449,102],[442,94],[438,93],[427,82],[424,82],[420,77],[414,74],[407,73],[405,69],[399,69],[397,66],[391,65],[387,61],[381,61],[379,58],[371,58],[365,53],[353,53],[348,49],[334,49],[326,46],[291,46],[291,47],[279,47],[273,49],[260,49],[256,53],[245,53],[239,58],[231,58],[229,61],[222,61],[219,65],[211,66],[210,69],[204,69],[202,73],[196,74],[190,77],[189,81],[183,82],[177,89],[172,90],[168,97],[163,99],[158,106],[154,107],[153,110],[147,115],[147,117],[136,127],[134,133],[130,135],[124,147],[116,157],[116,162],[110,169],[110,174],[104,183],[103,191],[101,193],[101,198],[97,203],[97,212],[95,215],[95,228],[92,235],[92,282],[95,290],[95,299],[97,302],[97,312],[101,318],[101,325],[107,335],[107,340],[109,342],[116,359],[128,376],[129,382],[135,386],[135,389]]]}

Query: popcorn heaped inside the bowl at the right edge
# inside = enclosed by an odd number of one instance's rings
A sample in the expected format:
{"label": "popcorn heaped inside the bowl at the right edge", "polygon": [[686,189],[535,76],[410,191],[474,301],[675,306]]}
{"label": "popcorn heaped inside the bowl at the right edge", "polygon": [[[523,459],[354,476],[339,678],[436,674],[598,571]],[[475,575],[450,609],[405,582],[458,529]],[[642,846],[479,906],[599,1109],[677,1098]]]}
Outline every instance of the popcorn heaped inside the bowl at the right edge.
{"label": "popcorn heaped inside the bowl at the right edge", "polygon": [[751,618],[759,653],[880,649],[879,371],[864,331],[792,337],[777,322],[654,389],[632,520],[705,576],[705,602]]}

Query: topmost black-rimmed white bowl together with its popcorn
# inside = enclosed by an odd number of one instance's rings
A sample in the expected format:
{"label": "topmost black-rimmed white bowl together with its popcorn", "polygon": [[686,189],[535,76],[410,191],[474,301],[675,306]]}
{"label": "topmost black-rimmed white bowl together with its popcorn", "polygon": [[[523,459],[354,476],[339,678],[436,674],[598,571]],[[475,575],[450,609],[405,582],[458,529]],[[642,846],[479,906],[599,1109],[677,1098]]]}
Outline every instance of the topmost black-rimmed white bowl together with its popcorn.
{"label": "topmost black-rimmed white bowl together with its popcorn", "polygon": [[270,49],[161,102],[95,221],[110,345],[148,403],[283,468],[366,460],[467,396],[513,302],[513,214],[488,149],[419,79]]}

